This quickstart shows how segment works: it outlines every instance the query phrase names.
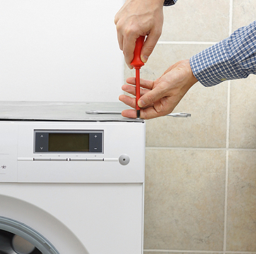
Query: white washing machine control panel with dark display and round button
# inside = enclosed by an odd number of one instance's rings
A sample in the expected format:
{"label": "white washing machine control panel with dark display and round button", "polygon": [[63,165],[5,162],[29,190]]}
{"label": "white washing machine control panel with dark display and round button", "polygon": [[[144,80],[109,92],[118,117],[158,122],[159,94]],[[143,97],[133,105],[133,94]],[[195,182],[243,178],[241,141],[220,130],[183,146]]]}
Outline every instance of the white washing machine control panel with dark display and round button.
{"label": "white washing machine control panel with dark display and round button", "polygon": [[0,121],[0,140],[0,182],[144,182],[144,122]]}

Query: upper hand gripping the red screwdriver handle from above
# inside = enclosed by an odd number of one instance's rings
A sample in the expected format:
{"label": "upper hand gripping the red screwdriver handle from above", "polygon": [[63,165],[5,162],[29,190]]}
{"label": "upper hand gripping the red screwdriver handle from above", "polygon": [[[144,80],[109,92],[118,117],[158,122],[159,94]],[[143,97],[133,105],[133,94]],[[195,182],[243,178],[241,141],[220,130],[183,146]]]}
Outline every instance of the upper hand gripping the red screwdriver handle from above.
{"label": "upper hand gripping the red screwdriver handle from above", "polygon": [[148,35],[141,49],[141,61],[146,63],[153,52],[163,27],[163,1],[127,0],[115,15],[117,40],[129,68],[139,36]]}

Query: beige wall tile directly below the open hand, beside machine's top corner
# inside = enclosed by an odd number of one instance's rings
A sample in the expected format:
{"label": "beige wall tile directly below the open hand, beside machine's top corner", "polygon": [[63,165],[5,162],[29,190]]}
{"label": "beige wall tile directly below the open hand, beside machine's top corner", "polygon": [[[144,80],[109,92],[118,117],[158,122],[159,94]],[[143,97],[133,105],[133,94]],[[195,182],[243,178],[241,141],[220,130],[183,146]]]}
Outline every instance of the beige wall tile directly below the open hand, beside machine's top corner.
{"label": "beige wall tile directly below the open hand, beside machine's top corner", "polygon": [[174,112],[188,118],[164,116],[146,121],[149,147],[226,147],[227,85],[194,85]]}

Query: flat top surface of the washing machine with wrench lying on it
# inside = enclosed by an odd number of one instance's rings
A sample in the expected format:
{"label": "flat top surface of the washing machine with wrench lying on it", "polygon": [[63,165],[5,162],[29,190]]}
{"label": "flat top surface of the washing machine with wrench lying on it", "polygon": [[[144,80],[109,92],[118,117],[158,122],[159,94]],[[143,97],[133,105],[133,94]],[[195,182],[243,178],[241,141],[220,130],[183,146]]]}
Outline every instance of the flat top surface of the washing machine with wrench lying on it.
{"label": "flat top surface of the washing machine with wrench lying on it", "polygon": [[0,102],[0,121],[122,121],[120,102]]}

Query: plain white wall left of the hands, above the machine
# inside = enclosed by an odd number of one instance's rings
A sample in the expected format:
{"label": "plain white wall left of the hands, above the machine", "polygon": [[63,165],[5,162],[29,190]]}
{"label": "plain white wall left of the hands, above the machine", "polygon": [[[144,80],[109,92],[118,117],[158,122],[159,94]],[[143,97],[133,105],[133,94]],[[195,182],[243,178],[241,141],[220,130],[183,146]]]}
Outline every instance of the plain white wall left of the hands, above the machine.
{"label": "plain white wall left of the hands, above the machine", "polygon": [[118,101],[122,0],[0,0],[0,100]]}

